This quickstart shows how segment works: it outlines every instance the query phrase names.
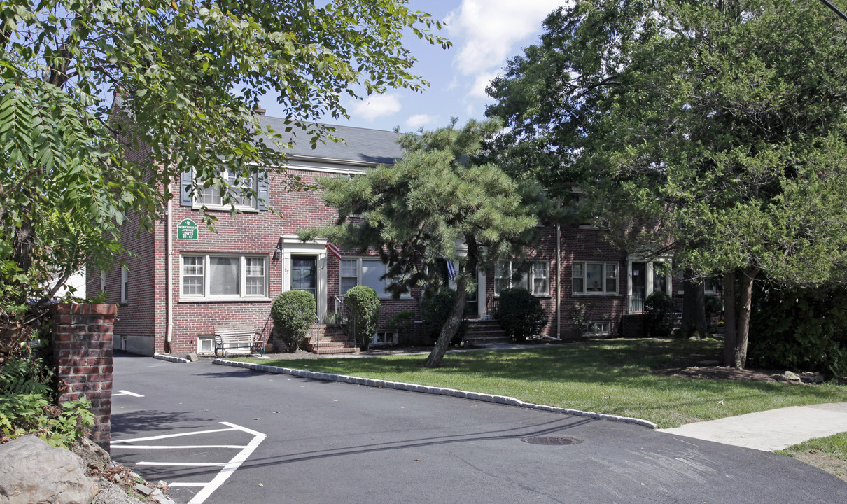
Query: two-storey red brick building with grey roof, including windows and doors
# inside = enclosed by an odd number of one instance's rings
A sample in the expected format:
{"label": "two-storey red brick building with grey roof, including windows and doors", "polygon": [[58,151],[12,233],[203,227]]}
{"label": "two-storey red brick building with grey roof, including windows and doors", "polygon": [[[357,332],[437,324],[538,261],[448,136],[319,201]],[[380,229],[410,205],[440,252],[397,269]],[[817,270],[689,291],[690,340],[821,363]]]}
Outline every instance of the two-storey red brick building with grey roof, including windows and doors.
{"label": "two-storey red brick building with grey roof, including windows and doors", "polygon": [[[285,130],[283,119],[261,120]],[[308,184],[320,176],[361,174],[401,157],[394,132],[335,128],[344,143],[327,142],[314,149],[308,142],[297,144],[289,155],[288,173]],[[134,253],[126,259],[126,268],[88,276],[89,292],[106,291],[108,302],[119,304],[115,346],[147,355],[212,352],[213,327],[227,323],[252,324],[269,337],[271,304],[280,292],[291,289],[312,292],[318,316],[324,318],[353,285],[374,288],[383,299],[380,341],[392,341],[385,323],[394,313],[411,309],[419,319],[420,293],[390,299],[385,280],[379,280],[385,273],[379,258],[342,252],[338,260],[324,241],[302,243],[296,237],[298,230],[337,217],[317,191],[286,191],[284,178],[274,174],[270,180],[254,177],[242,183],[251,184],[258,197],[239,201],[241,213],[231,217],[215,190],[193,195],[180,191],[189,177],[186,173],[174,180],[171,190],[179,198],[169,203],[167,215],[152,233],[137,233],[137,224],[131,222],[125,225],[125,246]],[[204,203],[218,218],[214,232],[202,224],[199,208]],[[650,292],[673,294],[672,281],[654,270],[653,263],[616,250],[589,225],[551,225],[542,231],[529,251],[531,264],[505,261],[479,272],[479,289],[468,296],[468,318],[489,318],[502,288],[523,286],[540,297],[549,314],[545,335],[572,339],[580,336],[573,323],[577,310],[593,323],[593,334],[613,334],[621,330],[625,315],[641,310]],[[513,274],[519,267],[526,274]]]}

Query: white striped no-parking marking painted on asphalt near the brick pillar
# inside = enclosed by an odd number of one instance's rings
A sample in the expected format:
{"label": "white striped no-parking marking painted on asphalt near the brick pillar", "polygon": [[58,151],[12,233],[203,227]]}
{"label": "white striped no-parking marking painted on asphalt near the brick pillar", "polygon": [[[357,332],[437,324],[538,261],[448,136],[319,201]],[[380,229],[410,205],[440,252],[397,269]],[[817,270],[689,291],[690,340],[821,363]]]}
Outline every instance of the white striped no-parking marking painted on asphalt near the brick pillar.
{"label": "white striped no-parking marking painted on asphalt near the brick pillar", "polygon": [[[124,391],[124,390],[121,390]],[[186,448],[228,448],[228,449],[240,449],[238,453],[235,454],[235,457],[230,459],[230,462],[136,462],[136,465],[146,465],[146,466],[182,466],[182,467],[221,467],[220,472],[208,483],[203,482],[195,482],[195,481],[174,481],[169,483],[169,486],[188,486],[188,487],[200,487],[201,490],[197,492],[197,495],[194,496],[191,501],[188,501],[188,504],[202,504],[203,501],[206,501],[209,496],[212,495],[214,490],[218,490],[220,485],[224,485],[227,479],[235,473],[235,469],[241,467],[241,464],[246,461],[247,457],[250,457],[253,451],[256,450],[257,446],[259,446],[262,441],[267,437],[267,435],[262,434],[261,432],[257,432],[252,429],[247,429],[246,427],[241,427],[241,425],[230,424],[229,422],[221,422],[220,424],[226,425],[229,429],[212,429],[212,430],[200,430],[197,432],[186,432],[183,434],[168,434],[168,435],[154,435],[143,438],[136,438],[132,440],[119,440],[113,441],[112,446],[120,449],[130,449],[130,450],[167,450],[167,449],[186,449]],[[141,441],[153,441],[153,440],[163,440],[175,437],[182,437],[186,435],[198,435],[198,434],[210,434],[214,432],[225,432],[229,430],[241,430],[241,432],[245,432],[246,434],[252,435],[253,439],[247,443],[246,446],[240,445],[196,445],[196,446],[161,446],[161,445],[133,445],[131,443],[137,443]]]}

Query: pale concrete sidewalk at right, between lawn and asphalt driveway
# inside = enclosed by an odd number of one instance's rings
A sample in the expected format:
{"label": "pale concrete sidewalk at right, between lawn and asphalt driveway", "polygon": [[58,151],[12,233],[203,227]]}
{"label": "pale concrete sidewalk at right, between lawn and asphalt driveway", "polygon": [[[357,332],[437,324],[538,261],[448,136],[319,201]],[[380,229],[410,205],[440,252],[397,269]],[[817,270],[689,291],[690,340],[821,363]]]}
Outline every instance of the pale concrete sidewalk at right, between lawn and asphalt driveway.
{"label": "pale concrete sidewalk at right, between lawn and asphalt driveway", "polygon": [[847,402],[782,407],[657,432],[754,450],[782,450],[805,440],[847,432]]}

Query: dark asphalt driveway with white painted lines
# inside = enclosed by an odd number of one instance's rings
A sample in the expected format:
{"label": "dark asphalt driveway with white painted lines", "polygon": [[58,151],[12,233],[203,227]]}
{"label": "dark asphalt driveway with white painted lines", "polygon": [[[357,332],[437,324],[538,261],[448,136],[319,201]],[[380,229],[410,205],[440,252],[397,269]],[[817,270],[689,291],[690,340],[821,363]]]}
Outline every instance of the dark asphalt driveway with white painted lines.
{"label": "dark asphalt driveway with white painted lines", "polygon": [[789,457],[606,420],[126,355],[113,386],[113,458],[182,503],[847,501]]}

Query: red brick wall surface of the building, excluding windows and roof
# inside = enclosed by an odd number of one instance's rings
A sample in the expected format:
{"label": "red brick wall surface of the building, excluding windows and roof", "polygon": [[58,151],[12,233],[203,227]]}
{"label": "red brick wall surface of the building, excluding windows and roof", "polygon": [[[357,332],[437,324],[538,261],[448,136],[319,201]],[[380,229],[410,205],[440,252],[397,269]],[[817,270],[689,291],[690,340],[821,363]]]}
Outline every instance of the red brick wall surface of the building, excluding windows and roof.
{"label": "red brick wall surface of the building, excluding windows and roof", "polygon": [[[320,176],[333,172],[356,172],[368,163],[352,164],[301,161],[290,167],[288,174],[300,177],[305,184],[313,184]],[[340,293],[340,263],[325,252],[322,243],[311,246],[300,244],[296,240],[296,232],[326,224],[335,220],[337,215],[324,206],[318,191],[288,192],[285,190],[286,182],[284,177],[272,174],[268,183],[268,207],[274,208],[278,214],[257,210],[231,217],[228,210],[211,210],[210,213],[217,218],[214,231],[211,231],[203,226],[197,209],[180,204],[179,184],[174,181],[172,191],[175,197],[171,202],[170,215],[163,216],[155,224],[152,234],[143,231],[138,234],[137,227],[133,227],[137,224],[127,224],[125,244],[135,256],[127,259],[129,289],[126,303],[119,307],[115,321],[116,345],[120,344],[119,341],[130,341],[130,351],[141,353],[194,352],[198,348],[198,335],[212,334],[215,325],[230,323],[252,324],[269,339],[271,303],[284,289],[292,255],[318,258],[318,269],[321,269],[324,282],[324,291],[318,299],[324,300],[324,310],[333,311],[334,298]],[[177,235],[176,226],[184,219],[198,224],[197,240],[180,239]],[[557,234],[561,251],[559,257],[556,253]],[[172,247],[170,292],[167,289],[169,246]],[[274,258],[278,246],[280,258]],[[597,230],[580,229],[578,226],[557,230],[553,225],[542,229],[540,241],[527,252],[530,259],[549,263],[548,294],[540,296],[550,319],[545,328],[546,335],[562,339],[579,337],[579,331],[573,324],[574,310],[578,305],[584,307],[586,321],[608,321],[611,333],[619,330],[621,317],[628,311],[628,258],[624,252],[602,241]],[[207,253],[263,258],[267,269],[267,296],[225,301],[183,296],[180,292],[182,258]],[[349,254],[349,257],[357,256]],[[574,262],[579,261],[617,263],[617,291],[611,294],[574,294],[572,267]],[[484,299],[479,302],[490,306],[491,300],[495,299],[493,269],[486,271],[484,278],[487,279]],[[90,292],[100,290],[97,274],[89,274],[88,281]],[[108,272],[108,302],[121,301],[120,284],[119,269]],[[407,299],[383,301],[380,325],[385,328],[385,322],[401,310],[415,310],[416,319],[419,319],[419,297],[418,292],[412,292],[412,297]],[[170,330],[169,305],[173,307]]]}

